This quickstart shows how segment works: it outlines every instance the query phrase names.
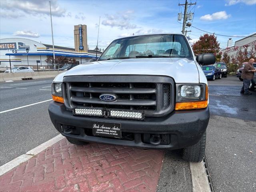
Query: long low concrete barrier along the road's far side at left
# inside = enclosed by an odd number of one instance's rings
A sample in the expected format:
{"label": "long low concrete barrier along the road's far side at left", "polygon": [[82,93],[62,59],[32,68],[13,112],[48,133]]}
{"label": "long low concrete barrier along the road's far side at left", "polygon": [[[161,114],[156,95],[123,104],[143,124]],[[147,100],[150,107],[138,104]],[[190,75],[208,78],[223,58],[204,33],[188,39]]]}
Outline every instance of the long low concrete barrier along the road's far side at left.
{"label": "long low concrete barrier along the road's far side at left", "polygon": [[24,73],[0,73],[0,82],[17,81],[22,79],[53,78],[63,71],[24,72]]}

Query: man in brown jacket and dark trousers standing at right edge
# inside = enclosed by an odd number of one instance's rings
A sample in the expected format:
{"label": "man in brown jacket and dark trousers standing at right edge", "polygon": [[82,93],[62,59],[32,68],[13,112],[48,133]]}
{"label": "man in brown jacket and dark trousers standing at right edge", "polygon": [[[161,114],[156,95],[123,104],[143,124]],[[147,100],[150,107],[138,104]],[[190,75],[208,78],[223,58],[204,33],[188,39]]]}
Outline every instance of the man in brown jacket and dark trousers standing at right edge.
{"label": "man in brown jacket and dark trousers standing at right edge", "polygon": [[243,93],[245,95],[250,95],[252,93],[249,92],[249,86],[250,86],[250,82],[253,78],[254,72],[256,72],[256,70],[254,69],[254,67],[252,66],[252,64],[254,63],[254,59],[251,58],[249,60],[249,62],[247,64],[245,64],[244,66],[244,70],[242,73],[241,78],[244,79],[243,81],[243,86],[242,89],[240,91],[240,93]]}

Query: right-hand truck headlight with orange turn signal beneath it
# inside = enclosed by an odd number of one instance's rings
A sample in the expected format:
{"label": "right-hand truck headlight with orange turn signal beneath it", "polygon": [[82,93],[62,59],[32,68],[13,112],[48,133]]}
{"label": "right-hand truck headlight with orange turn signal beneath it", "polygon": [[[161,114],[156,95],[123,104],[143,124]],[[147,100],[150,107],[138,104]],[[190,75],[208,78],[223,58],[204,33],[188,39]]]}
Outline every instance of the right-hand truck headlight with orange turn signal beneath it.
{"label": "right-hand truck headlight with orange turn signal beneath it", "polygon": [[200,109],[208,106],[207,84],[176,84],[175,110]]}

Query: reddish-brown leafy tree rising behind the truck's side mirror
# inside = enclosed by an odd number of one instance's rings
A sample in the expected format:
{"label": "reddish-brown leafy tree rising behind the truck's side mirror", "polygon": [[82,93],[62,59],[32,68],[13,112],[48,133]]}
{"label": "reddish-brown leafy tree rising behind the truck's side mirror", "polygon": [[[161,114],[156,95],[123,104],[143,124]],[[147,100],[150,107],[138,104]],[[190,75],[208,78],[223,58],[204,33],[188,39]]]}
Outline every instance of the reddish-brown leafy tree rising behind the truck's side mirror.
{"label": "reddish-brown leafy tree rising behind the truck's side mirror", "polygon": [[194,43],[193,51],[195,54],[213,53],[216,55],[220,51],[220,43],[214,34],[204,34]]}

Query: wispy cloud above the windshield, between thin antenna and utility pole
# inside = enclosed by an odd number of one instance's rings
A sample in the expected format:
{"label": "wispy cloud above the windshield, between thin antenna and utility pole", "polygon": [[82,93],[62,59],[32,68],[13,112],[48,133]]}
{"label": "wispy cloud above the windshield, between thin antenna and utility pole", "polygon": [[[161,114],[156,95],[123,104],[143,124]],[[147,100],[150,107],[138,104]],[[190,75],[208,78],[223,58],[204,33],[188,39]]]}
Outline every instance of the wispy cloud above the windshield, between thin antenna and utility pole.
{"label": "wispy cloud above the windshield, between thin antenna and utility pole", "polygon": [[106,14],[106,19],[102,21],[102,25],[117,27],[121,30],[138,28],[135,24],[130,23],[132,13],[132,10],[128,10],[126,12],[117,13],[114,15]]}

